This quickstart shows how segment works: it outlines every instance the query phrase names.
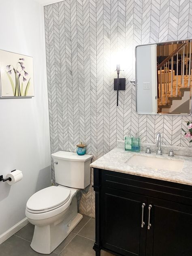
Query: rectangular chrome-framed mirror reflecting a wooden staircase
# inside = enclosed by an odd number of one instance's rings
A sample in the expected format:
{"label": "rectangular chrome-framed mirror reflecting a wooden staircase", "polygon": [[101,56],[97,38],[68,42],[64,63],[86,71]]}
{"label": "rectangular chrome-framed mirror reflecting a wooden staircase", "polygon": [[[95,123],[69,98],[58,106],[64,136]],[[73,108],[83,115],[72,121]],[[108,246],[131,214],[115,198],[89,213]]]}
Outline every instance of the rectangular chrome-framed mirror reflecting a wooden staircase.
{"label": "rectangular chrome-framed mirror reflecting a wooden staircase", "polygon": [[192,40],[139,45],[136,106],[141,114],[191,114]]}

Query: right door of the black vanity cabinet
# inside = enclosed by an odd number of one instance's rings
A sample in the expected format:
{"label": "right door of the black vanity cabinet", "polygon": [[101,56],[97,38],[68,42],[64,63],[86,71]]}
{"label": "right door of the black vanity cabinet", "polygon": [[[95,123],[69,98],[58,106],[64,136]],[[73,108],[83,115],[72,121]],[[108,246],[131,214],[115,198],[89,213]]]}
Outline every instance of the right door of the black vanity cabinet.
{"label": "right door of the black vanity cabinet", "polygon": [[192,206],[148,198],[146,208],[146,256],[192,256]]}

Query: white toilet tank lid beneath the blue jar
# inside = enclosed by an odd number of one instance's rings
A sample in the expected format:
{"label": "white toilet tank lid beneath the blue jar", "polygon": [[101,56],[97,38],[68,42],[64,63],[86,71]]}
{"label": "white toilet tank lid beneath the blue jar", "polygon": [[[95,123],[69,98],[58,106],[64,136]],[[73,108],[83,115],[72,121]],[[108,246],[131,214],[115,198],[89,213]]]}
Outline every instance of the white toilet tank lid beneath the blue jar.
{"label": "white toilet tank lid beneath the blue jar", "polygon": [[63,159],[67,161],[75,161],[75,162],[86,162],[92,159],[91,155],[83,155],[79,156],[77,153],[68,152],[68,151],[58,151],[51,154],[52,158]]}

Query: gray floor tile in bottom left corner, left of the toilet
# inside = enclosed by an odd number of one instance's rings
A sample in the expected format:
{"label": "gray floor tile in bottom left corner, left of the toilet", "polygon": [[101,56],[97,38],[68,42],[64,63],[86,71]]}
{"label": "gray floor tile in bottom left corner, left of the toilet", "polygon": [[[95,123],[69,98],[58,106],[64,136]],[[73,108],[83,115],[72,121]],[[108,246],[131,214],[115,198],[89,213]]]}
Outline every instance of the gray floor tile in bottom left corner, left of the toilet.
{"label": "gray floor tile in bottom left corner, left of the toilet", "polygon": [[[91,240],[90,240],[91,241]],[[34,252],[30,247],[30,242],[13,235],[4,243],[0,245],[0,256],[38,256],[44,255]],[[51,253],[50,256],[56,256],[57,254]]]}

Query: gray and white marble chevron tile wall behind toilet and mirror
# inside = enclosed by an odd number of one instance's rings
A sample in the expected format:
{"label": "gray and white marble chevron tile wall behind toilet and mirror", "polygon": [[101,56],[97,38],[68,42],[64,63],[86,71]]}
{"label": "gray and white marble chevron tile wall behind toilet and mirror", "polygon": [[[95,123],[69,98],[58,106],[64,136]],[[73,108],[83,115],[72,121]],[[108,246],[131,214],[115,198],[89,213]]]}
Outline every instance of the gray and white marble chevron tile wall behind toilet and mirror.
{"label": "gray and white marble chevron tile wall behind toilet and mirror", "polygon": [[[136,45],[192,38],[192,0],[65,0],[45,6],[45,37],[52,153],[75,151],[82,140],[96,160],[128,128],[143,142],[154,143],[160,131],[164,144],[190,146],[181,134],[189,117],[138,115],[130,79]],[[117,54],[126,77],[118,108]],[[94,216],[91,186],[78,198],[80,212]]]}

